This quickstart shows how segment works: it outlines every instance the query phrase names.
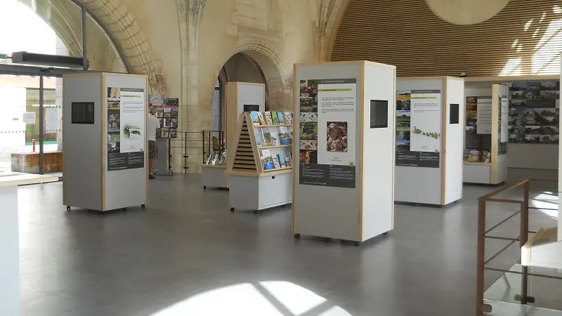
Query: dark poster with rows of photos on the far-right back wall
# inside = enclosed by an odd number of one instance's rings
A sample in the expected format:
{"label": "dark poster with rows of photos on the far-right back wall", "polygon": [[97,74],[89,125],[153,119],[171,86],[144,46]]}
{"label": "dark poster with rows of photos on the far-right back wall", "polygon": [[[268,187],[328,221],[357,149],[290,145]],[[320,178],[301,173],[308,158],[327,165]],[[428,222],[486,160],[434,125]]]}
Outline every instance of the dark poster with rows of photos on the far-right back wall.
{"label": "dark poster with rows of photos on the far-right back wall", "polygon": [[511,82],[509,143],[558,144],[560,82]]}

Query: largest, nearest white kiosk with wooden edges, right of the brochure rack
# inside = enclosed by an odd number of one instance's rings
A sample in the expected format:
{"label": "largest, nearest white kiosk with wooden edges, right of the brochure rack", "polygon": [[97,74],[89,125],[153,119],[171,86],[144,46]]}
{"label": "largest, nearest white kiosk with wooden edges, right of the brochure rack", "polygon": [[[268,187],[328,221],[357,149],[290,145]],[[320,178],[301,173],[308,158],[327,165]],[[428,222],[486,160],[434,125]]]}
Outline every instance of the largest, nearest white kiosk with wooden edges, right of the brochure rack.
{"label": "largest, nearest white kiosk with wooden edges, right of the brochure rack", "polygon": [[386,234],[394,214],[396,67],[296,64],[293,77],[294,237],[357,245]]}

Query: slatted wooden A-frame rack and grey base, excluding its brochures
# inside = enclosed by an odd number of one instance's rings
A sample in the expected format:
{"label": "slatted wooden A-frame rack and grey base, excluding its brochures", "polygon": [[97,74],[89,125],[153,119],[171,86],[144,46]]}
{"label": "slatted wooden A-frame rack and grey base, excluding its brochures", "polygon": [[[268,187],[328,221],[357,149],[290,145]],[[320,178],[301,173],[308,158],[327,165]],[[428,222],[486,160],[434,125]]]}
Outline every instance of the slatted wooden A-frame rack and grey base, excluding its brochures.
{"label": "slatted wooden A-frame rack and grey base, excluding its brochures", "polygon": [[254,126],[249,113],[240,114],[239,132],[232,143],[233,149],[229,151],[225,171],[230,211],[246,209],[258,213],[262,209],[291,203],[292,166],[264,170],[261,156],[263,150],[269,150],[272,155],[283,154],[285,159],[291,159],[287,152],[290,153],[292,145],[259,146],[256,142],[256,131],[275,131],[281,126],[291,128],[292,124]]}

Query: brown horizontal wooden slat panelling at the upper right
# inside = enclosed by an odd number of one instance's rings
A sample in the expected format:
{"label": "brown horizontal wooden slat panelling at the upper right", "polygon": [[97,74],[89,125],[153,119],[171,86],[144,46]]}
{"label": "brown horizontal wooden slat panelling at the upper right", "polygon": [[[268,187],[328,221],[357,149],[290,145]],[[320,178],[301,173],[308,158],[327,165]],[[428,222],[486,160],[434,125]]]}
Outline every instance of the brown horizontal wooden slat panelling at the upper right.
{"label": "brown horizontal wooden slat panelling at the upper right", "polygon": [[[559,63],[549,71],[540,67],[558,62],[562,50],[562,14],[555,6],[562,8],[562,0],[511,0],[489,20],[454,25],[433,14],[424,0],[350,0],[331,60],[396,65],[399,77],[558,73]],[[517,58],[521,72],[502,73]]]}

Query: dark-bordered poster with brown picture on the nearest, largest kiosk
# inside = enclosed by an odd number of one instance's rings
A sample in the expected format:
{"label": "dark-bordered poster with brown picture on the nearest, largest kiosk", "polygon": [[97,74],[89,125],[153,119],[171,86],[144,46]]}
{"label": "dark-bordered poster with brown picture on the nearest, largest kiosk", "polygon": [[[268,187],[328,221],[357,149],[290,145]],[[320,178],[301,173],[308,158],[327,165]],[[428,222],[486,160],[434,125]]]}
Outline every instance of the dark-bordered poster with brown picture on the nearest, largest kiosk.
{"label": "dark-bordered poster with brown picture on the nearest, largest kiosk", "polygon": [[356,109],[356,79],[300,81],[299,141],[313,144],[299,150],[301,185],[355,187]]}

